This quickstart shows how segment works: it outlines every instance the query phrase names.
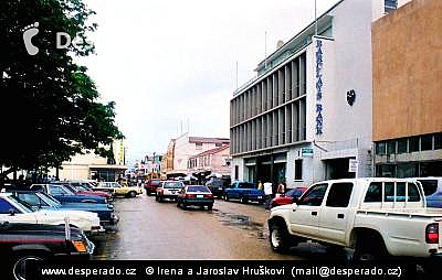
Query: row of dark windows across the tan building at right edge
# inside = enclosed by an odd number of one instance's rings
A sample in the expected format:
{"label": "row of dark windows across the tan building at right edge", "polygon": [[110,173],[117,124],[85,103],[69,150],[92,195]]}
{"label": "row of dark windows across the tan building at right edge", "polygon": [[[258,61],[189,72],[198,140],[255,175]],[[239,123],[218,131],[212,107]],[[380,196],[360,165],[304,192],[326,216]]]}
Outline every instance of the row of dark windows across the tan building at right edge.
{"label": "row of dark windows across the tan building at right edge", "polygon": [[376,142],[376,154],[399,154],[442,149],[442,132]]}

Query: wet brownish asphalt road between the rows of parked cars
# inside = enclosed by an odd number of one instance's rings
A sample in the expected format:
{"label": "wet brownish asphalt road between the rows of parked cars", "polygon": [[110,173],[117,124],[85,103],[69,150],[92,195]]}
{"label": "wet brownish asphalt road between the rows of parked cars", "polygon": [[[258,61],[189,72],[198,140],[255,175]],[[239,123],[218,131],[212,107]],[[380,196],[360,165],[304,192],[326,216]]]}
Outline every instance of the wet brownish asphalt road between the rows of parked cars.
{"label": "wet brownish asphalt road between the rows of parked cars", "polygon": [[[213,209],[183,211],[175,202],[146,194],[116,198],[117,228],[96,243],[93,259],[335,259],[317,244],[301,244],[286,255],[272,251],[263,205],[217,200]],[[339,258],[347,258],[339,256]]]}

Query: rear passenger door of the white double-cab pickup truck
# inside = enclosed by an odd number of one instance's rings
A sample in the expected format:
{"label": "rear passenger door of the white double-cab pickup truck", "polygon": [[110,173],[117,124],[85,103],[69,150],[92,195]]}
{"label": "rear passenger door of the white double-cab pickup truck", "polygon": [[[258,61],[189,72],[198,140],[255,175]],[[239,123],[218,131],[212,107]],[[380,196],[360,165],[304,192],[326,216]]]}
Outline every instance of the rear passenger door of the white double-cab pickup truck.
{"label": "rear passenger door of the white double-cab pickup truck", "polygon": [[350,217],[348,208],[354,183],[339,182],[330,185],[324,207],[319,212],[319,237],[332,243],[345,244]]}

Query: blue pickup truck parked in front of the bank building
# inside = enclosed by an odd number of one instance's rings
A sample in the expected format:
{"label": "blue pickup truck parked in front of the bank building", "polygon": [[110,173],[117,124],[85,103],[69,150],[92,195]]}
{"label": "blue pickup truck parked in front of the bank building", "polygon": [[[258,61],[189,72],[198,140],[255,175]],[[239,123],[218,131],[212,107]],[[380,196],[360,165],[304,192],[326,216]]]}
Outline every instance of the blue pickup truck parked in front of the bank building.
{"label": "blue pickup truck parked in front of the bank building", "polygon": [[230,198],[240,200],[241,203],[255,201],[262,204],[265,201],[265,194],[263,190],[256,189],[256,185],[252,182],[236,181],[224,190],[224,201],[228,202]]}

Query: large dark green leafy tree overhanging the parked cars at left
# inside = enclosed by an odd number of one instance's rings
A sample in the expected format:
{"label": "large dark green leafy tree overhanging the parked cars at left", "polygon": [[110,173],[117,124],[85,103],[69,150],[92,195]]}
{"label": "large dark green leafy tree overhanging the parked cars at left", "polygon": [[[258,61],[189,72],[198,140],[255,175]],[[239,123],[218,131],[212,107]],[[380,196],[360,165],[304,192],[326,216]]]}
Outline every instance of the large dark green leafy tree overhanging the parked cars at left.
{"label": "large dark green leafy tree overhanging the parked cars at left", "polygon": [[[113,157],[109,144],[124,138],[114,123],[115,103],[97,101],[86,67],[73,62],[94,53],[85,43],[97,28],[88,23],[94,13],[82,0],[0,1],[0,166],[8,166],[0,179],[15,170],[57,168],[85,150]],[[24,43],[31,29],[38,30],[30,41],[38,47],[33,55]],[[60,49],[57,32],[82,43]]]}

